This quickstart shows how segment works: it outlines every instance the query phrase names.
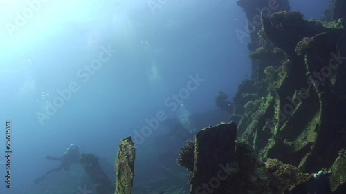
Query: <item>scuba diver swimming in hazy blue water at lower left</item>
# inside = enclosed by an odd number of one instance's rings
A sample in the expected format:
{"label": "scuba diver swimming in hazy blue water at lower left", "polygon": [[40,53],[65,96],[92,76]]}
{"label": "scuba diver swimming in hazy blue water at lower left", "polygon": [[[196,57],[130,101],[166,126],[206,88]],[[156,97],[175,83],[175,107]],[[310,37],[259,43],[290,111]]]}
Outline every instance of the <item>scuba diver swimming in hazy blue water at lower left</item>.
{"label": "scuba diver swimming in hazy blue water at lower left", "polygon": [[58,160],[61,162],[61,164],[57,168],[53,168],[47,171],[46,173],[44,173],[44,175],[42,175],[41,177],[38,177],[37,179],[35,179],[35,184],[39,184],[40,182],[45,180],[47,175],[49,175],[52,172],[60,171],[62,168],[64,168],[65,171],[69,170],[71,164],[78,162],[79,155],[80,155],[80,146],[77,146],[75,144],[71,144],[69,148],[66,149],[62,157],[53,157],[53,156],[47,155],[46,159]]}

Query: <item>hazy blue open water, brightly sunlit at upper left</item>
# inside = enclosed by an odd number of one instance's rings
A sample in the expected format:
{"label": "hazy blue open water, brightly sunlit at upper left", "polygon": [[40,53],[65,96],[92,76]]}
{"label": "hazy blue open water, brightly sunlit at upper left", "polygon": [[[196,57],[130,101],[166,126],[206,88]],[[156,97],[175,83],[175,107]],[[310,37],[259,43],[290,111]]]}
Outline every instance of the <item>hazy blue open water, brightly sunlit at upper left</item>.
{"label": "hazy blue open water, brightly sunlit at upper left", "polygon": [[[319,19],[329,1],[290,3]],[[58,165],[46,155],[60,157],[71,143],[107,168],[129,135],[137,143],[136,181],[154,178],[143,169],[155,169],[150,148],[170,133],[165,121],[180,118],[199,130],[189,116],[217,109],[217,92],[232,97],[251,76],[249,38],[235,33],[246,31],[236,1],[0,1],[0,12],[0,193],[38,191],[33,180]],[[50,177],[60,175],[69,173]]]}

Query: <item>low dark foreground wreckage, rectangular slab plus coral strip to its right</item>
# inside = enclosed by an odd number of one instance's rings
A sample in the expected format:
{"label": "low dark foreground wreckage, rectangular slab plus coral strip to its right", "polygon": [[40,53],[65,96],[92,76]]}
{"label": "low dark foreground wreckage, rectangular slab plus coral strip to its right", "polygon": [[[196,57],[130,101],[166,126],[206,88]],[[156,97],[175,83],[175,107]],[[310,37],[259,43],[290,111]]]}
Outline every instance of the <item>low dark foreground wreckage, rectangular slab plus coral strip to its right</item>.
{"label": "low dark foreground wreckage, rectangular slab plus coral strip to its right", "polygon": [[[330,186],[332,173],[329,171],[304,173],[296,166],[284,164],[278,159],[266,159],[264,162],[250,144],[235,140],[236,132],[234,122],[204,128],[197,132],[194,142],[188,142],[188,146],[181,150],[180,161],[190,163],[184,157],[191,158],[192,155],[186,155],[185,150],[195,147],[194,168],[190,175],[191,194],[331,193],[331,186],[334,188],[335,184],[345,184],[345,177],[342,177],[345,170],[344,152],[340,153],[336,164],[330,169],[341,171],[334,175],[336,181]],[[185,165],[189,171],[190,166]]]}

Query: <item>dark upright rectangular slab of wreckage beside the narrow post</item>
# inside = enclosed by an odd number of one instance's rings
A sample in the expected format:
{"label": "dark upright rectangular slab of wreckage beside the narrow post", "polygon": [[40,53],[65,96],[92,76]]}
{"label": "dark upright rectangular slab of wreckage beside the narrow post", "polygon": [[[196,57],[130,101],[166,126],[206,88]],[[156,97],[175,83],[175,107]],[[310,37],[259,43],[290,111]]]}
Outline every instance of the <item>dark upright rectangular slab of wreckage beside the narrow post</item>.
{"label": "dark upright rectangular slab of wreckage beside the narrow post", "polygon": [[221,169],[227,171],[226,166],[232,161],[236,138],[235,122],[204,128],[196,133],[194,170],[190,180],[193,193],[206,189],[203,188],[204,184],[218,184],[214,186],[217,188],[210,188],[210,191],[226,194],[225,188],[230,184],[230,178]]}

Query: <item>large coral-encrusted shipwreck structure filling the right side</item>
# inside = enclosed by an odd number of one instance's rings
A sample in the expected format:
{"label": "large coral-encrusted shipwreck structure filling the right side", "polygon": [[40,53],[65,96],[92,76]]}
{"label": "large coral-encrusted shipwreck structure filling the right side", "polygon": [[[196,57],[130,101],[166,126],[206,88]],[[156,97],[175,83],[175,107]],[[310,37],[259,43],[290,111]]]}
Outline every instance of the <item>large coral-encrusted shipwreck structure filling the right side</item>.
{"label": "large coral-encrusted shipwreck structure filling the right side", "polygon": [[[346,30],[338,17],[345,16],[346,3],[332,0],[325,21],[307,21],[288,11],[287,1],[275,2],[283,11],[268,14],[262,7],[271,0],[238,1],[248,21],[258,14],[262,21],[249,26],[252,79],[244,80],[232,102],[231,120],[248,144],[235,142],[228,151],[205,144],[204,151],[215,155],[199,168],[205,174],[197,168],[198,138],[183,148],[181,157],[188,158],[179,162],[190,171],[192,164],[182,162],[191,162],[188,148],[194,148],[191,193],[346,193]],[[218,158],[220,152],[230,154]],[[216,163],[228,164],[229,176],[218,177]],[[209,179],[196,181],[201,177]]]}

